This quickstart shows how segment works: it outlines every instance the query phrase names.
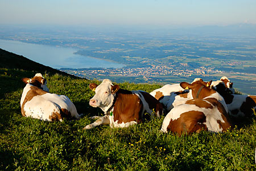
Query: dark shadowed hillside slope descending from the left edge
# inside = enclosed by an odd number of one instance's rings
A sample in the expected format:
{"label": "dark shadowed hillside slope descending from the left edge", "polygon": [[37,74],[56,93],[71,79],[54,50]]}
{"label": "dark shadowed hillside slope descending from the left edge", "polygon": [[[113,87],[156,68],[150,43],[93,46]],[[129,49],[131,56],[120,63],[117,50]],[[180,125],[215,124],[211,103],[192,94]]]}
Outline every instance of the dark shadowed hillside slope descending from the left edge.
{"label": "dark shadowed hillside slope descending from the left edge", "polygon": [[66,72],[31,61],[22,55],[0,49],[0,99],[4,97],[6,93],[23,88],[24,83],[21,80],[22,78],[32,78],[32,76],[38,72],[41,72],[43,75],[47,74],[48,76],[59,74],[73,79],[81,79],[77,76],[67,74]]}

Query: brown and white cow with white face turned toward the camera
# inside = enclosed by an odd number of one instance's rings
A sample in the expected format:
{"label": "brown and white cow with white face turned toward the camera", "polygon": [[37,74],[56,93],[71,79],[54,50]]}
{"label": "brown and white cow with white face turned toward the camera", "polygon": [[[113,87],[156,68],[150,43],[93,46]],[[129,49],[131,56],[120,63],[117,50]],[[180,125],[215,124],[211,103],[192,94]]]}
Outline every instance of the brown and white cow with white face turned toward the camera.
{"label": "brown and white cow with white face turned toward the camera", "polygon": [[162,105],[147,92],[121,89],[109,79],[104,79],[100,85],[90,83],[89,88],[96,92],[89,101],[90,106],[101,108],[105,116],[84,129],[108,124],[110,127],[128,127],[162,115]]}

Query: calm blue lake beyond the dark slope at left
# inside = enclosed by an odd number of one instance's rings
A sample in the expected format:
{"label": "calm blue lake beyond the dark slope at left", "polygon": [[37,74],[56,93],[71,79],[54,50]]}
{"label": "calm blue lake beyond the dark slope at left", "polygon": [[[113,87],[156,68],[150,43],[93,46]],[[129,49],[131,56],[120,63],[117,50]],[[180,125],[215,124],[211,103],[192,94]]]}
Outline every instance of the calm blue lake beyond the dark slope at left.
{"label": "calm blue lake beyond the dark slope at left", "polygon": [[55,69],[60,69],[61,67],[73,69],[89,67],[120,68],[125,66],[120,63],[74,54],[77,50],[72,48],[28,44],[11,40],[0,40],[0,48],[8,52],[23,55],[23,57],[32,61]]}

